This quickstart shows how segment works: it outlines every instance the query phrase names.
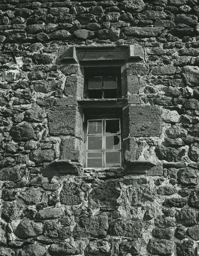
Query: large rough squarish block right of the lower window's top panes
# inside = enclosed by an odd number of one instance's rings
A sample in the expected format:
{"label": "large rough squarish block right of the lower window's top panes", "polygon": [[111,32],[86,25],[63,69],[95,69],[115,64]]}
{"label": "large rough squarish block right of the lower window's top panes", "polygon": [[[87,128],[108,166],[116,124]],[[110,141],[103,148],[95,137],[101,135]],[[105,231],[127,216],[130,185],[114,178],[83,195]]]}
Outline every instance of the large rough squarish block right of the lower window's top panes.
{"label": "large rough squarish block right of the lower window's top panes", "polygon": [[[160,136],[161,118],[160,109],[156,106],[129,106],[129,122],[125,120],[123,127],[129,127],[124,131],[124,138]],[[126,118],[125,118],[126,119]]]}

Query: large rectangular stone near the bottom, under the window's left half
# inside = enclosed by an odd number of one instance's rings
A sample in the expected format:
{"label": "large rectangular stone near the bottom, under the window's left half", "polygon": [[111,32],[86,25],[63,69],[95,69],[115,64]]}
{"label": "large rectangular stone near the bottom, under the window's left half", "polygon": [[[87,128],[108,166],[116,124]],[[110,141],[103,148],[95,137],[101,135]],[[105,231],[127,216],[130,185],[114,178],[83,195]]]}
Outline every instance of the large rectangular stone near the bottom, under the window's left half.
{"label": "large rectangular stone near the bottom, under the window's left half", "polygon": [[74,237],[99,237],[103,238],[108,233],[108,216],[106,214],[75,218]]}

